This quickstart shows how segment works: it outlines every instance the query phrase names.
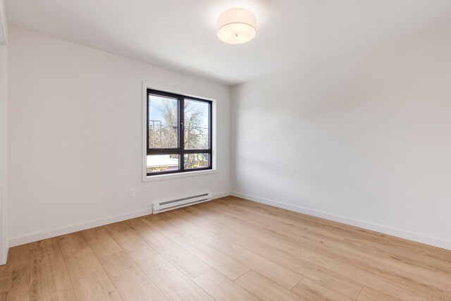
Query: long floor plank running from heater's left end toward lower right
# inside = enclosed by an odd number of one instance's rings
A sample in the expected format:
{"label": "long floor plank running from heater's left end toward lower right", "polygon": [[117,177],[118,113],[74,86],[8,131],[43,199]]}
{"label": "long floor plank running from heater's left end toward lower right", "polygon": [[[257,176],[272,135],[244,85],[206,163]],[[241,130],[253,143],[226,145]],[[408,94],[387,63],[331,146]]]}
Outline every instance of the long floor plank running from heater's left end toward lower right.
{"label": "long floor plank running from heater's left end toward lower right", "polygon": [[291,289],[303,278],[303,276],[290,271],[290,269],[275,264],[270,260],[247,250],[245,247],[222,240],[217,235],[214,235],[214,233],[210,233],[185,219],[180,219],[180,217],[175,214],[168,214],[171,215],[171,223],[173,223],[174,226],[205,242],[207,245],[214,247],[218,252],[223,252],[237,262],[249,266],[249,268],[259,272],[259,274],[285,288]]}

